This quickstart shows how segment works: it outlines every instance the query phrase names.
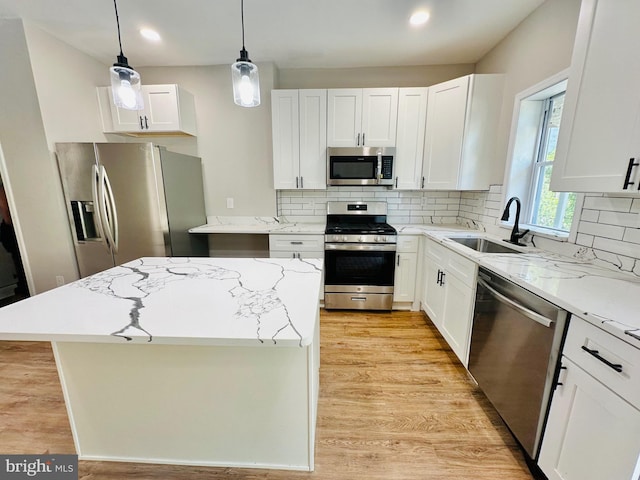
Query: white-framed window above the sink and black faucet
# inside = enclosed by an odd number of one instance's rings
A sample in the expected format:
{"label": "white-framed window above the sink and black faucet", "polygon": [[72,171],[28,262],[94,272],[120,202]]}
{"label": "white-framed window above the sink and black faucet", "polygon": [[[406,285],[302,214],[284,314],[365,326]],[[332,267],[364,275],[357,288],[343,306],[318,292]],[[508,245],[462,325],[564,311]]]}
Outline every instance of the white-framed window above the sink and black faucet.
{"label": "white-framed window above the sink and black faucet", "polygon": [[575,193],[549,189],[562,119],[566,71],[516,95],[506,198],[523,200],[522,223],[554,235],[571,229]]}

